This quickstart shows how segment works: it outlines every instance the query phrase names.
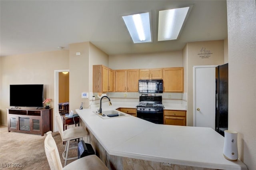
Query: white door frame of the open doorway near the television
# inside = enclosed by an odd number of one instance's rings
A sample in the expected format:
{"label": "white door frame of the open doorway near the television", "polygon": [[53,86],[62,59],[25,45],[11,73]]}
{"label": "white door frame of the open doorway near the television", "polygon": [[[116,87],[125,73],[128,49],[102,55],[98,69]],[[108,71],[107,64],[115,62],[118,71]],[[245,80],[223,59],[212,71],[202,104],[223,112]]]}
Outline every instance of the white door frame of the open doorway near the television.
{"label": "white door frame of the open doorway near the television", "polygon": [[55,123],[55,115],[59,114],[59,73],[68,71],[69,69],[63,69],[63,70],[54,70],[54,113],[53,113],[53,124],[54,128],[53,131],[56,132],[58,130],[58,126]]}

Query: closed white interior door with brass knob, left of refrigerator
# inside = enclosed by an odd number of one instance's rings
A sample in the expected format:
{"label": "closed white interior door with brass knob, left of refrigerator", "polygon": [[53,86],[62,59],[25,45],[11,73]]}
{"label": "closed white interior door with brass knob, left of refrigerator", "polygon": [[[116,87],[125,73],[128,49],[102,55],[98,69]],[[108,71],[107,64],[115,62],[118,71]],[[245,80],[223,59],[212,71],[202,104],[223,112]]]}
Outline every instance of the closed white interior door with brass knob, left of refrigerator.
{"label": "closed white interior door with brass knob, left of refrigerator", "polygon": [[215,65],[194,66],[194,126],[215,129]]}

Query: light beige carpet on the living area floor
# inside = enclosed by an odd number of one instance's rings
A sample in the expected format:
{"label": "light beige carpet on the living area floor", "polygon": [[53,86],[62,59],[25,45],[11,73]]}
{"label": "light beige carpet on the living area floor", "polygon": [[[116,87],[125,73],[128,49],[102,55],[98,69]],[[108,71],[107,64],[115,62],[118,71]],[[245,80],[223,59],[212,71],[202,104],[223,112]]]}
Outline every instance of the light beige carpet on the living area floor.
{"label": "light beige carpet on the living area floor", "polygon": [[[52,136],[57,144],[60,154],[60,160],[62,166],[64,166],[64,159],[62,158],[62,152],[65,149],[65,145],[62,143],[60,134],[58,132],[52,132]],[[19,169],[19,170],[49,170],[46,154],[44,152],[44,136],[37,134],[26,134],[18,132],[8,132],[8,128],[0,126],[0,169]],[[72,140],[71,146],[77,146],[78,142]],[[70,150],[68,157],[77,156],[77,149]],[[67,164],[74,160],[68,160]],[[7,167],[9,166],[10,167]],[[22,168],[12,167],[21,165]]]}

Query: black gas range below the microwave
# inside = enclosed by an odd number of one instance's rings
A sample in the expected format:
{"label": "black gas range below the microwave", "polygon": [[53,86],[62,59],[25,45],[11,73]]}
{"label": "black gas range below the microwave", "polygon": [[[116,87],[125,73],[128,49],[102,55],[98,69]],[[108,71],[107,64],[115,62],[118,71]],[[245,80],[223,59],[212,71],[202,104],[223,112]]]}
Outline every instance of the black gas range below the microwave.
{"label": "black gas range below the microwave", "polygon": [[140,96],[137,105],[137,117],[156,124],[164,122],[162,96]]}

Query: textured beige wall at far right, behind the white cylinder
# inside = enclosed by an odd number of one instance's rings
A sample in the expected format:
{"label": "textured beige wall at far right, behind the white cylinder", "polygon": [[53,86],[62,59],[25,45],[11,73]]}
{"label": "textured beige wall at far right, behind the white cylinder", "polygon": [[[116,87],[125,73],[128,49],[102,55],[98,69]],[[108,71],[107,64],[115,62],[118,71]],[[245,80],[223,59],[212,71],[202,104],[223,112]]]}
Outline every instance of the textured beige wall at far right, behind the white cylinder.
{"label": "textured beige wall at far right, behind the white cylinder", "polygon": [[228,129],[238,132],[238,155],[256,168],[256,3],[227,1]]}

